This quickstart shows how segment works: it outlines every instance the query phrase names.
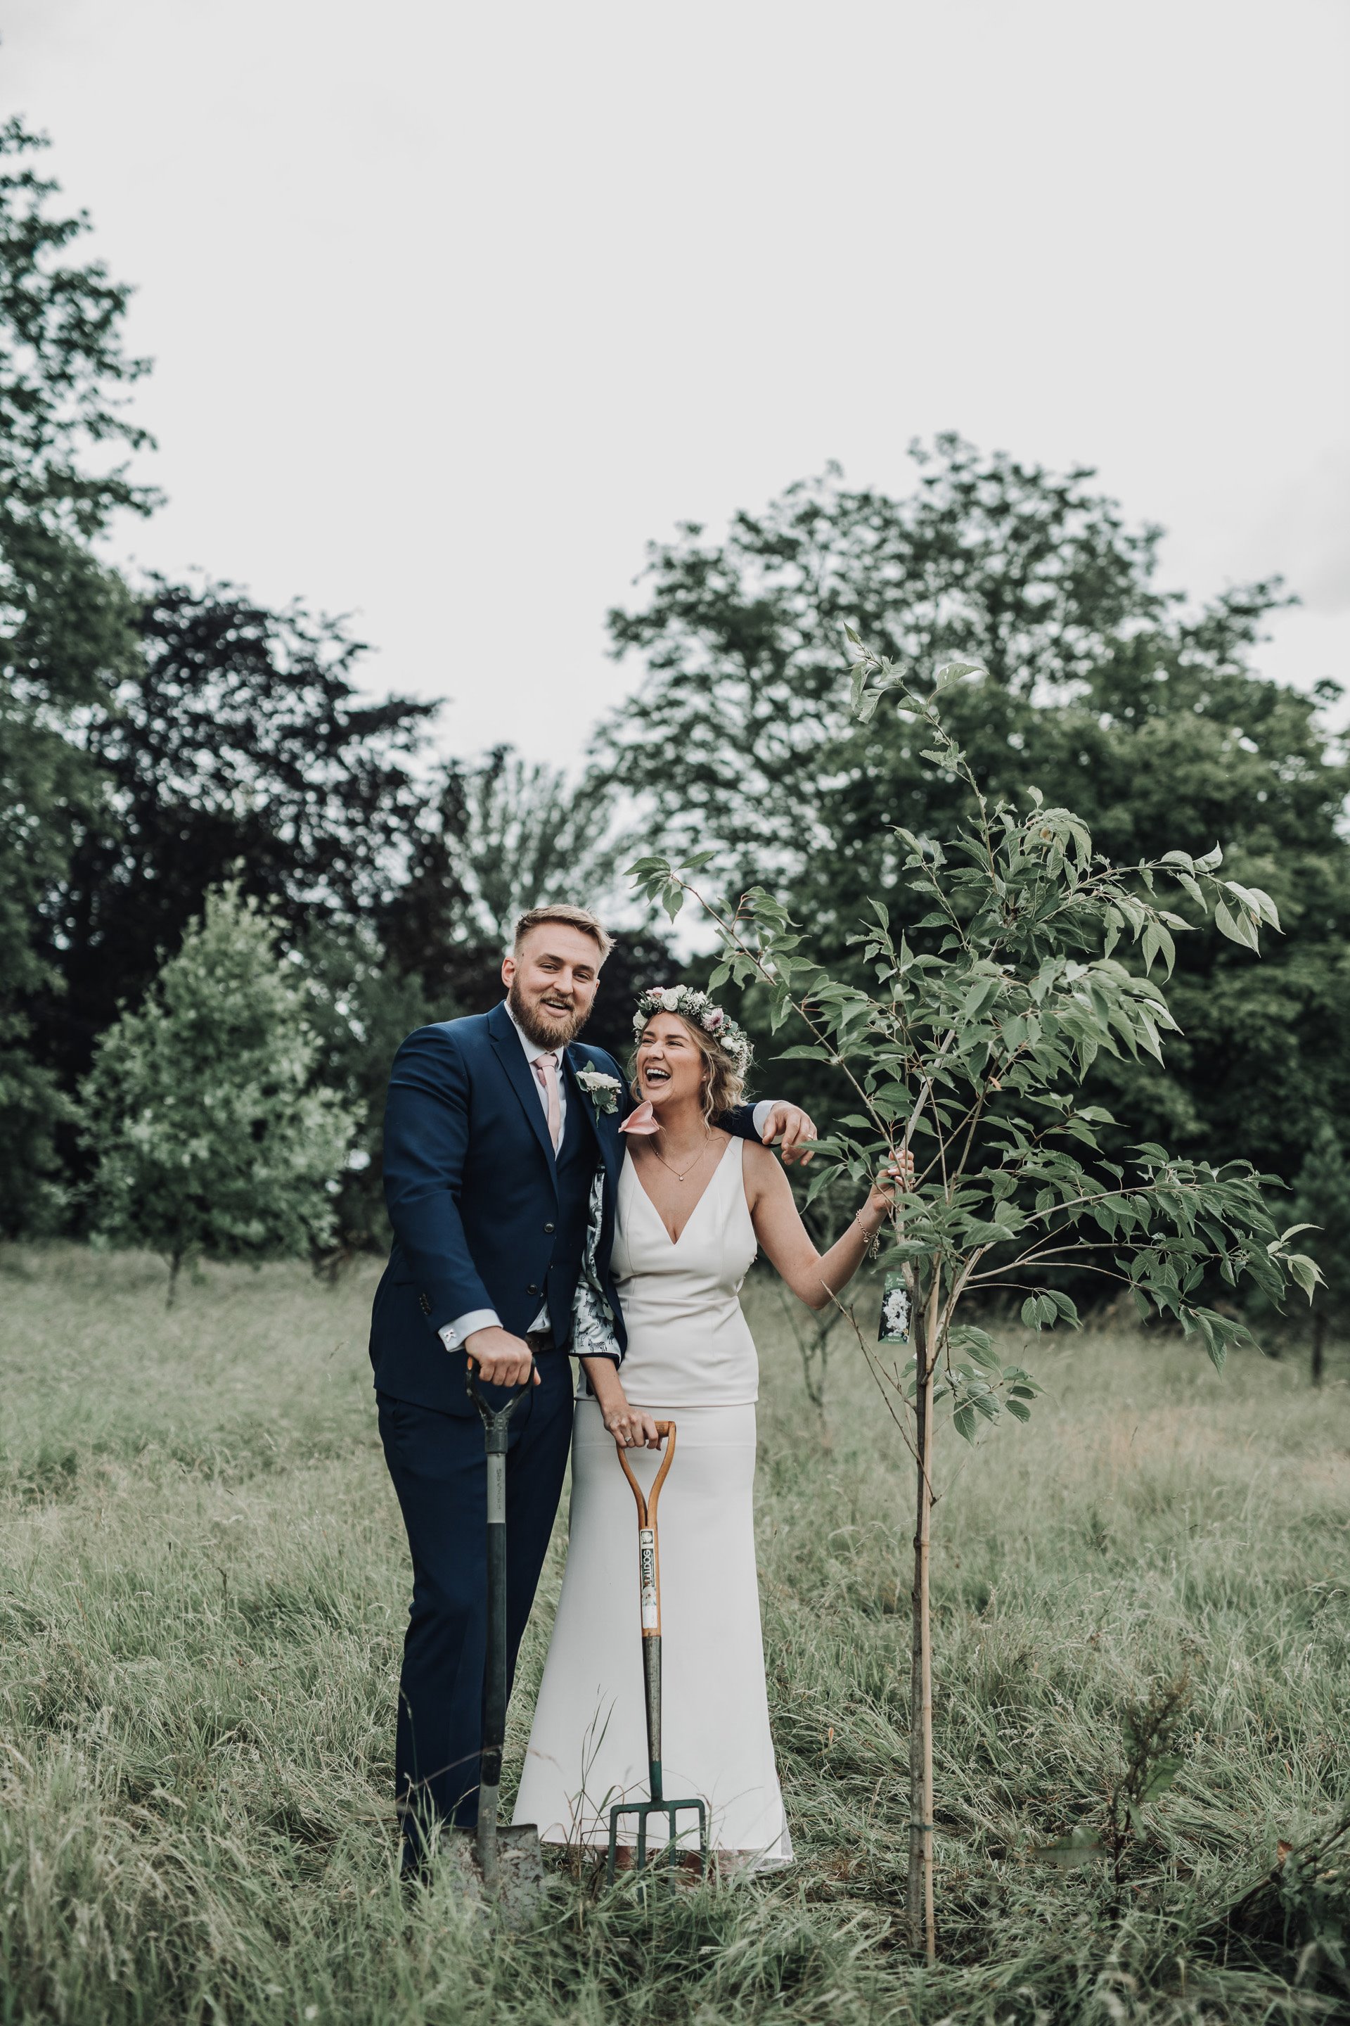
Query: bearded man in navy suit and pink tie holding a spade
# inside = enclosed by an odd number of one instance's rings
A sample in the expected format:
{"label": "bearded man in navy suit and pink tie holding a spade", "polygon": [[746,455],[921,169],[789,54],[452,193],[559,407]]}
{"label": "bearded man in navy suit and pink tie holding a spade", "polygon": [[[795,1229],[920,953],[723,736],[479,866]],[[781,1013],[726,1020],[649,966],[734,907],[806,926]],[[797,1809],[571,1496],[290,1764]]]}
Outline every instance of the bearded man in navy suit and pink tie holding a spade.
{"label": "bearded man in navy suit and pink tie holding a spade", "polygon": [[[478,1819],[486,1657],[488,1495],[468,1359],[496,1406],[530,1376],[506,1455],[508,1667],[524,1633],[563,1491],[571,1438],[573,1295],[603,1171],[595,1266],[609,1272],[631,1110],[627,1078],[577,1043],[611,940],[585,908],[532,908],[502,962],[492,1013],[419,1027],[395,1056],[385,1110],[385,1201],[395,1230],[374,1295],[370,1363],[381,1440],[413,1552],[403,1643],[397,1795],[415,1870],[439,1823]],[[719,1120],[741,1139],[816,1137],[793,1104],[743,1104]]]}

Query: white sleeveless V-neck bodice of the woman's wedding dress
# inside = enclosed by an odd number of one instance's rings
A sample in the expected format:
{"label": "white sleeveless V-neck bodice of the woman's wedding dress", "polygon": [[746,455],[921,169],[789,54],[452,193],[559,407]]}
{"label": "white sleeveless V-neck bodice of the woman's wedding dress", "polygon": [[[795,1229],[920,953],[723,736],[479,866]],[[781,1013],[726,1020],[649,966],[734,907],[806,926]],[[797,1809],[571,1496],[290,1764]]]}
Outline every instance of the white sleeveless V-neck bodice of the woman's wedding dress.
{"label": "white sleeveless V-neck bodice of the woman's wedding dress", "polygon": [[755,1258],[745,1141],[733,1139],[678,1240],[642,1187],[619,1173],[613,1280],[627,1325],[623,1392],[634,1406],[753,1406],[759,1359],[741,1284]]}

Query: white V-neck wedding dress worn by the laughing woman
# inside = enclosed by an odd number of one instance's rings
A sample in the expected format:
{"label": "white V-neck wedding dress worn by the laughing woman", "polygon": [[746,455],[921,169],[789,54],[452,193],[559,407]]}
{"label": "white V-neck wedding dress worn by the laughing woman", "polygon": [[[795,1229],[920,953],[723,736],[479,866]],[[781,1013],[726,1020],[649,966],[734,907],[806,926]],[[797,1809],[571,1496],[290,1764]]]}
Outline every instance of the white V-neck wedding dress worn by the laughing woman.
{"label": "white V-neck wedding dress worn by the laughing woman", "polygon": [[[658,1505],[664,1789],[708,1803],[712,1850],[767,1870],[791,1862],[791,1838],[755,1578],[759,1359],[737,1299],[755,1258],[743,1147],[733,1139],[723,1151],[678,1244],[625,1159],[613,1276],[627,1327],[623,1390],[676,1422]],[[656,1451],[627,1459],[650,1489]],[[599,1406],[579,1394],[567,1574],[514,1819],[536,1821],[551,1844],[603,1846],[611,1803],[646,1797],[638,1507]],[[682,1842],[696,1848],[696,1817],[686,1823]],[[638,1840],[631,1817],[619,1836]]]}

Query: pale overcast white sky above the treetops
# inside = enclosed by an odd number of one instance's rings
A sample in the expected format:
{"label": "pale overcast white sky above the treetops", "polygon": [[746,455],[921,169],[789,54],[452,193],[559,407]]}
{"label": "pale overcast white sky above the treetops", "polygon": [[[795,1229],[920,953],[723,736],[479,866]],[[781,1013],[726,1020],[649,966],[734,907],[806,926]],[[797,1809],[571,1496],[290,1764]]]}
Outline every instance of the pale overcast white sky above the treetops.
{"label": "pale overcast white sky above the treetops", "polygon": [[121,553],[571,760],[648,537],[905,446],[1099,468],[1350,677],[1346,0],[0,0],[138,284]]}

